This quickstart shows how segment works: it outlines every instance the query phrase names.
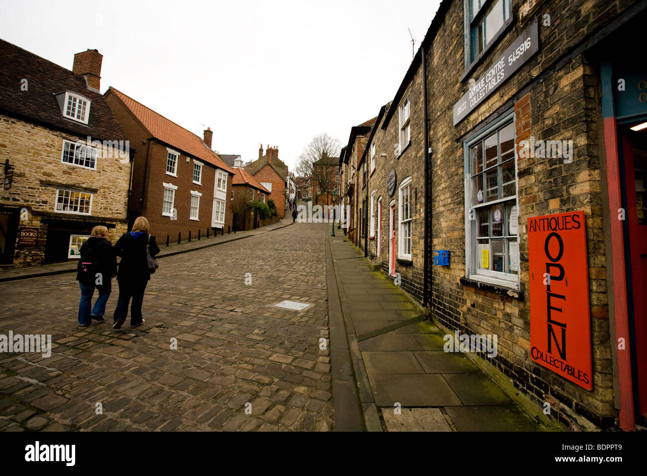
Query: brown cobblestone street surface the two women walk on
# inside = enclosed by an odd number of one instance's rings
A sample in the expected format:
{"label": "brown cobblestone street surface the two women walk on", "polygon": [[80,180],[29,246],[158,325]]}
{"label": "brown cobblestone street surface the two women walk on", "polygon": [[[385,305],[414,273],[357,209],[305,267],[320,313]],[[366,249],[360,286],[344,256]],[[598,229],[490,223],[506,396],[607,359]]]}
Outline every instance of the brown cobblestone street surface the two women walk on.
{"label": "brown cobblestone street surface the two women walk on", "polygon": [[[116,282],[89,328],[74,275],[0,283],[0,334],[51,334],[53,348],[0,354],[0,430],[333,429],[326,231],[296,223],[164,258],[136,329],[111,327]],[[285,299],[313,305],[274,306]]]}

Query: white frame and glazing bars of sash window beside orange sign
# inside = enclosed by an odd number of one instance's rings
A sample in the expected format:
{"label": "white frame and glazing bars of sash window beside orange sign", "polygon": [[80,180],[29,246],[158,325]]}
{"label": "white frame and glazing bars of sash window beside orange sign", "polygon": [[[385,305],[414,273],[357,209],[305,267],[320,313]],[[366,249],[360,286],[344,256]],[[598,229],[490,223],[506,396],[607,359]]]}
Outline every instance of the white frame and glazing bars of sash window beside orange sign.
{"label": "white frame and glazing bars of sash window beside orange sign", "polygon": [[[479,203],[477,205],[472,205],[472,164],[470,163],[470,148],[474,146],[479,141],[482,141],[485,139],[485,137],[488,137],[495,131],[501,130],[508,126],[509,124],[513,125],[514,129],[514,111],[509,111],[508,113],[505,113],[499,117],[496,121],[494,121],[492,124],[489,124],[487,128],[484,128],[483,130],[478,131],[472,137],[466,139],[464,142],[464,159],[465,159],[465,277],[469,278],[471,280],[475,281],[480,281],[480,282],[485,282],[487,284],[492,284],[494,286],[499,286],[501,288],[506,288],[506,289],[515,289],[519,290],[520,289],[520,275],[521,275],[521,270],[520,270],[520,256],[517,256],[517,273],[505,273],[505,271],[492,271],[490,269],[478,269],[479,267],[477,266],[476,260],[479,258],[476,250],[477,250],[477,222],[478,222],[478,210],[479,209],[490,209],[494,205],[498,205],[500,203],[507,203],[509,206],[516,206],[517,212],[519,212],[519,184],[518,184],[518,164],[517,164],[517,154],[516,154],[516,139],[515,139],[515,145],[514,145],[514,174],[515,174],[515,190],[516,190],[516,196],[514,199],[510,198],[499,198],[499,199],[494,199],[491,201],[485,201],[483,200],[483,203]],[[497,147],[500,148],[500,144],[497,144]],[[500,150],[499,152],[500,153]],[[500,173],[500,164],[498,163],[497,165],[499,167],[499,172],[498,172],[498,183],[499,187],[502,187],[503,184],[501,183],[501,173]],[[488,169],[489,170],[489,169]],[[485,180],[485,177],[484,177]],[[483,184],[483,188],[485,188],[485,183]],[[514,205],[511,205],[511,203],[514,203]],[[476,217],[475,220],[470,220],[470,212],[471,210],[474,210],[474,216]],[[506,230],[509,227],[509,223],[506,223],[507,217],[503,216],[503,229]],[[488,225],[488,233],[490,226]],[[515,238],[514,234],[503,234],[501,238],[496,238],[496,239],[501,239],[503,240],[503,262],[505,266],[505,261],[506,257],[509,255],[509,249],[506,250],[506,243],[509,242],[509,240],[512,240]],[[492,238],[488,239],[488,244],[491,244]],[[516,233],[516,243],[520,243],[520,237],[519,237],[519,227],[517,226],[517,233]],[[509,248],[509,247],[508,247]],[[488,253],[489,259],[490,259],[490,266],[492,267],[492,247],[490,245],[490,252]]]}

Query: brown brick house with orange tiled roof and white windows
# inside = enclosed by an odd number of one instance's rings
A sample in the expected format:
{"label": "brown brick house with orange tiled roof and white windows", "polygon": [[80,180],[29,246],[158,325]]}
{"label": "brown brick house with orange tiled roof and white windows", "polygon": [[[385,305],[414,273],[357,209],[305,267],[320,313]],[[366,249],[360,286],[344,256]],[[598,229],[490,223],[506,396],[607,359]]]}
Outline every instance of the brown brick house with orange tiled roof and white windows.
{"label": "brown brick house with orange tiled roof and white windows", "polygon": [[146,216],[159,242],[230,231],[234,172],[211,149],[213,132],[201,139],[114,87],[104,96],[142,151],[133,163],[129,223]]}

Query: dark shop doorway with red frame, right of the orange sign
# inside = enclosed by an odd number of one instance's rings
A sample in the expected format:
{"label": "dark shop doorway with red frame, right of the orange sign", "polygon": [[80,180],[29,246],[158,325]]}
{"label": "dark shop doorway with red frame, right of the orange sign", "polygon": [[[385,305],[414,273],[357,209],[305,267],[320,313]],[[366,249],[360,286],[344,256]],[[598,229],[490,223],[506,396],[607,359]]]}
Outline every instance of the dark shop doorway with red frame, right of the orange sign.
{"label": "dark shop doorway with red frame, right of the orange sign", "polygon": [[647,127],[619,128],[618,142],[633,403],[636,423],[647,426]]}

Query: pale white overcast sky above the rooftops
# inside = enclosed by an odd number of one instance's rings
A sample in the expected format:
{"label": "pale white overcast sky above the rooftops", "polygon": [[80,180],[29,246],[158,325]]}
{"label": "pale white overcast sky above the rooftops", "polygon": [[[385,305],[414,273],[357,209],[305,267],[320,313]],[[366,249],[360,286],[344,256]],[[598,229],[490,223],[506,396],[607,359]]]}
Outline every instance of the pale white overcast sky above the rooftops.
{"label": "pale white overcast sky above the rooftops", "polygon": [[[440,0],[0,0],[0,38],[68,69],[104,55],[114,86],[245,161],[279,147],[294,169],[322,132],[351,126],[393,99]],[[204,126],[203,126],[204,125]]]}

